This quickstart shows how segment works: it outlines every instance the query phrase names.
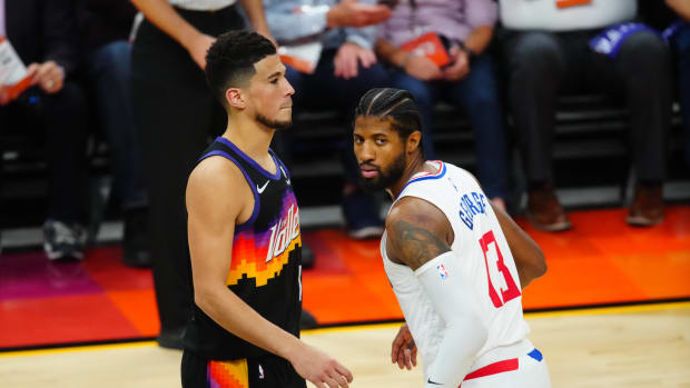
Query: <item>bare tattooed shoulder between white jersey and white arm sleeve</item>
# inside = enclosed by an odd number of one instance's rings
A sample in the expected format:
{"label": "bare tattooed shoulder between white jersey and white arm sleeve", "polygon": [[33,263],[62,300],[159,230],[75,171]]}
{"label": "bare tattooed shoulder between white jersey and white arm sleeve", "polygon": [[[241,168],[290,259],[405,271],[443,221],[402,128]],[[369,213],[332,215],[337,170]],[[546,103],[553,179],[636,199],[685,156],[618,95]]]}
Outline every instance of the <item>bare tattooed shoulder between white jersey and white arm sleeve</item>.
{"label": "bare tattooed shoulder between white jersey and white arm sleeve", "polygon": [[451,250],[453,229],[432,203],[414,197],[401,199],[386,219],[386,252],[393,262],[416,270]]}

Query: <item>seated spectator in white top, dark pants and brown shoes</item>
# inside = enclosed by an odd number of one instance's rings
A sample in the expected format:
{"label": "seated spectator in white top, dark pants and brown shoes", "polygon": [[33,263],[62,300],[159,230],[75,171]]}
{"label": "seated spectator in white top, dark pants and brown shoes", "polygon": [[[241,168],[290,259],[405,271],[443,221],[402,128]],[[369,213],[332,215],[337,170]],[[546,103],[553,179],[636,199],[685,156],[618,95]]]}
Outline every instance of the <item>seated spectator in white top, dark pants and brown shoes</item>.
{"label": "seated spectator in white top, dark pants and brown shoes", "polygon": [[[635,0],[501,0],[509,101],[528,178],[528,219],[542,230],[571,228],[553,187],[554,116],[559,93],[607,92],[630,108],[637,172],[627,218],[663,220],[662,181],[671,116],[670,54],[655,31],[624,23]],[[610,29],[609,29],[610,28]]]}

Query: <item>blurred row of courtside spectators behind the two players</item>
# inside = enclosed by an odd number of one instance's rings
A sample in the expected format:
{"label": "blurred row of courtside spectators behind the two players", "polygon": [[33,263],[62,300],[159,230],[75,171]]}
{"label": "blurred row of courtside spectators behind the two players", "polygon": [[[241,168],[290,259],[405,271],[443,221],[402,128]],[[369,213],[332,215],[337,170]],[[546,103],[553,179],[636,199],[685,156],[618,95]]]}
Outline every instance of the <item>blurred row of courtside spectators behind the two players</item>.
{"label": "blurred row of courtside spectators behind the two players", "polygon": [[230,29],[306,52],[286,57],[295,123],[273,148],[300,206],[338,206],[354,239],[383,231],[385,200],[359,188],[349,132],[376,87],[415,97],[428,159],[472,170],[495,205],[544,231],[572,228],[561,189],[608,179],[622,195],[604,205],[653,227],[664,183],[690,178],[683,0],[0,0],[0,37],[30,79],[18,96],[0,83],[0,227],[42,225],[58,262],[88,260],[103,220],[121,220],[122,262],[154,268],[162,346],[179,346],[189,306],[187,177],[226,126],[205,52]]}

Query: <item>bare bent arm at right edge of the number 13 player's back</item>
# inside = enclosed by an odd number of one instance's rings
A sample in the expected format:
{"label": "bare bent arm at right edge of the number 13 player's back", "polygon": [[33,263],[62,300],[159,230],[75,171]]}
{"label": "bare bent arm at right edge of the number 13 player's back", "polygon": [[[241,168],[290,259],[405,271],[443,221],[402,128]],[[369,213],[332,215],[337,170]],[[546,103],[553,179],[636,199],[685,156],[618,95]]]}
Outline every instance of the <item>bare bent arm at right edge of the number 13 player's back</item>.
{"label": "bare bent arm at right edge of the number 13 player's back", "polygon": [[511,252],[518,267],[518,275],[520,276],[520,285],[522,288],[525,288],[532,280],[546,273],[544,252],[530,235],[513,221],[511,216],[493,205],[492,208],[499,219],[505,240],[509,247],[511,247]]}

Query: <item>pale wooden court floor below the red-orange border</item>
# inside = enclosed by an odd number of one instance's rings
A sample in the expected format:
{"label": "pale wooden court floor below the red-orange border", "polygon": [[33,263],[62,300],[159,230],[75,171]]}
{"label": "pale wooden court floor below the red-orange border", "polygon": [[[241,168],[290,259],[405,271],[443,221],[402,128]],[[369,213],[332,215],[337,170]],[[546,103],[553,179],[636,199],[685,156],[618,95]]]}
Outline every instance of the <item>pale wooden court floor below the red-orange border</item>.
{"label": "pale wooden court floor below the red-orange border", "polygon": [[[533,314],[528,321],[553,387],[690,387],[690,302]],[[352,370],[352,387],[421,387],[421,365],[408,371],[391,364],[397,327],[317,329],[303,337]],[[152,341],[0,354],[0,385],[179,387],[180,357]]]}

